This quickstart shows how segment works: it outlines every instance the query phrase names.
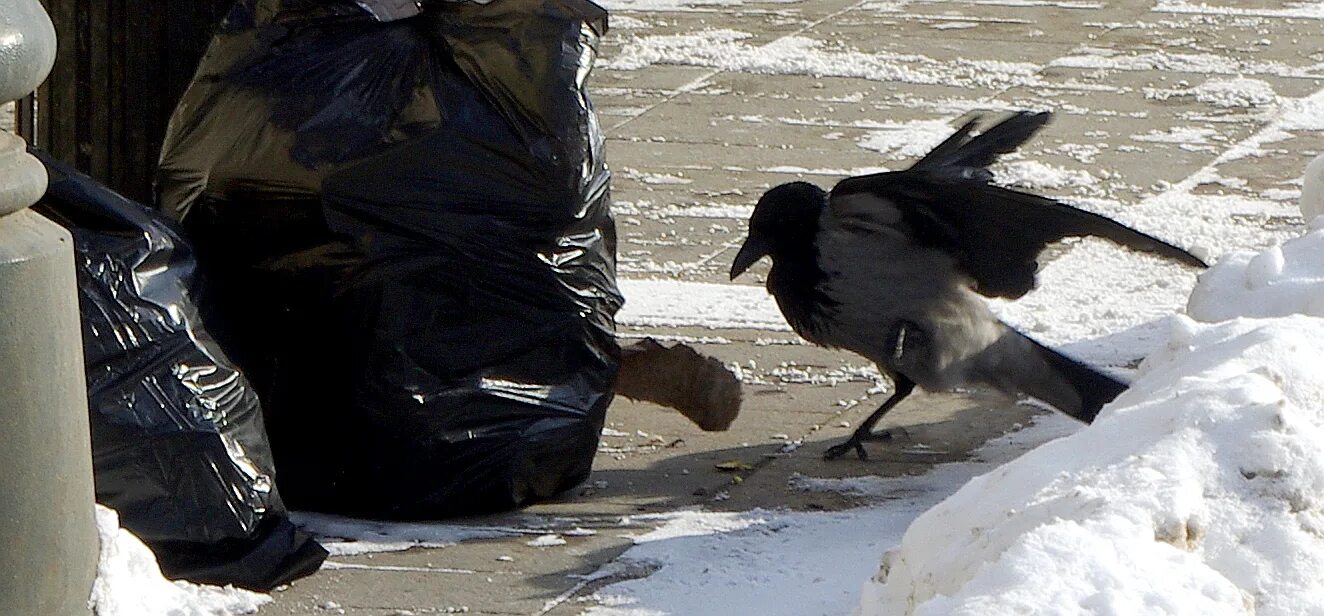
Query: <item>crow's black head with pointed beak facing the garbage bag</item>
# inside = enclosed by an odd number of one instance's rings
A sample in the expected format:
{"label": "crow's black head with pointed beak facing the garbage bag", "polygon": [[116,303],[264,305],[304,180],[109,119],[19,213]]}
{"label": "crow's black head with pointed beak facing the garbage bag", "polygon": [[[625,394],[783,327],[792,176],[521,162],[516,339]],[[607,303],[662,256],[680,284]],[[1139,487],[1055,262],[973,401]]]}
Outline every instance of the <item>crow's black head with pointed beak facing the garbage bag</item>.
{"label": "crow's black head with pointed beak facing the garbage bag", "polygon": [[808,181],[781,184],[763,193],[749,216],[749,237],[731,264],[731,278],[765,256],[777,260],[809,253],[826,205],[828,193]]}

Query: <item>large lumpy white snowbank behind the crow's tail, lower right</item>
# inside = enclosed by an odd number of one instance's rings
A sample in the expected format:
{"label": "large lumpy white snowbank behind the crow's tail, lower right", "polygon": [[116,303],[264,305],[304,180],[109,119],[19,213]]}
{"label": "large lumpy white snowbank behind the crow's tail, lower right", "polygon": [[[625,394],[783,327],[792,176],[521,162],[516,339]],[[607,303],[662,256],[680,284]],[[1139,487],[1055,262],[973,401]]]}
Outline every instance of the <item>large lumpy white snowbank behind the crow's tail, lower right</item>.
{"label": "large lumpy white snowbank behind the crow's tail, lower right", "polygon": [[[1094,425],[920,515],[861,616],[1324,605],[1324,224],[1230,254]],[[1255,317],[1278,318],[1243,318]],[[1291,314],[1291,315],[1284,315]]]}

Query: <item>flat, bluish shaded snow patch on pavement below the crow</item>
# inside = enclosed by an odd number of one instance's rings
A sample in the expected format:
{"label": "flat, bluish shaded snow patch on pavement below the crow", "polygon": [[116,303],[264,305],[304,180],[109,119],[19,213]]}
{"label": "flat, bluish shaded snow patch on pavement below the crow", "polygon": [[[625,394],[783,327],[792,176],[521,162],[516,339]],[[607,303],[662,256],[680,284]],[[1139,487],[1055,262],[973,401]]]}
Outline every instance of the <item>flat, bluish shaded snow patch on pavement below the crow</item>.
{"label": "flat, bluish shaded snow patch on pavement below the crow", "polygon": [[1037,419],[974,452],[970,462],[937,466],[920,477],[796,477],[793,489],[886,494],[883,505],[834,513],[755,510],[677,511],[634,517],[659,525],[606,571],[651,571],[602,588],[587,616],[845,615],[878,554],[900,540],[907,525],[972,476],[992,470],[1079,424],[1059,415]]}

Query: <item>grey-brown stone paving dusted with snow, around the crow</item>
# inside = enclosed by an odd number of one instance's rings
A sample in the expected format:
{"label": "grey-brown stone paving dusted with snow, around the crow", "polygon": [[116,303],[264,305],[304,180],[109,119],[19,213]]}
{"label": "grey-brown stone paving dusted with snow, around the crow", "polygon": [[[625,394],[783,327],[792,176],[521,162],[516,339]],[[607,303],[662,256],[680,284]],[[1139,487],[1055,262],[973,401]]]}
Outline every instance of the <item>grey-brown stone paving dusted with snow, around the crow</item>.
{"label": "grey-brown stone paving dusted with snow, around the crow", "polygon": [[[744,219],[769,185],[821,185],[907,164],[972,110],[1054,110],[1017,179],[1074,200],[1133,205],[1178,187],[1237,200],[1250,227],[1291,213],[1324,134],[1274,125],[1324,87],[1324,9],[1274,0],[618,0],[591,89],[608,134],[622,280],[730,283]],[[1279,138],[1280,136],[1280,138]],[[1238,156],[1262,147],[1267,156]],[[1200,175],[1196,175],[1200,174]],[[1180,231],[1180,229],[1178,229]],[[1174,240],[1180,240],[1176,237]],[[741,282],[757,285],[767,264]],[[683,321],[683,319],[682,319]],[[821,460],[880,401],[858,356],[782,330],[655,327],[739,364],[745,405],[727,432],[618,400],[593,477],[555,502],[482,519],[516,529],[617,529],[549,550],[528,534],[445,548],[336,556],[262,615],[580,613],[622,570],[589,582],[643,531],[639,513],[862,502],[788,488],[794,474],[918,474],[1025,424],[1029,407],[915,395],[884,425],[906,438],[867,462]],[[796,444],[798,446],[788,446]],[[923,445],[912,446],[912,445]],[[748,468],[724,472],[719,462]],[[624,523],[622,523],[624,522]],[[707,616],[707,615],[683,615]],[[716,615],[714,615],[716,616]]]}

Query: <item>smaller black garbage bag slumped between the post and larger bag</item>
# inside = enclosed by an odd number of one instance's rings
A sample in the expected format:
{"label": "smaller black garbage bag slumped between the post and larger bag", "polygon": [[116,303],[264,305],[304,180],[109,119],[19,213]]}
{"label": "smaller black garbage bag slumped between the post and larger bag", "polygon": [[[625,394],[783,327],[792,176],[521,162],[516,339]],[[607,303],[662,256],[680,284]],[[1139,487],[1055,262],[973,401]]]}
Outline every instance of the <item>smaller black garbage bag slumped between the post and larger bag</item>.
{"label": "smaller black garbage bag slumped between the post and larger bag", "polygon": [[193,254],[168,219],[34,151],[36,207],[74,237],[97,501],[163,572],[266,591],[327,552],[273,485],[257,395],[199,321]]}

